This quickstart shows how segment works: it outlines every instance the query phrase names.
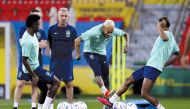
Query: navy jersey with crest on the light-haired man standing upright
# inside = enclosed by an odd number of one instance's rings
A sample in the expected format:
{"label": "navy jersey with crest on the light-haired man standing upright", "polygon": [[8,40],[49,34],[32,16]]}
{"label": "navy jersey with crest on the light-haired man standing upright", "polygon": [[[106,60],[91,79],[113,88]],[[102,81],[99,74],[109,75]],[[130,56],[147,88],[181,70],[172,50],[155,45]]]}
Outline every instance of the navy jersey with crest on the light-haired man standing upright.
{"label": "navy jersey with crest on the light-haired man standing upright", "polygon": [[48,30],[48,41],[51,49],[51,61],[68,60],[72,61],[72,50],[77,32],[74,27],[58,27],[58,24],[51,26]]}

